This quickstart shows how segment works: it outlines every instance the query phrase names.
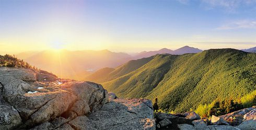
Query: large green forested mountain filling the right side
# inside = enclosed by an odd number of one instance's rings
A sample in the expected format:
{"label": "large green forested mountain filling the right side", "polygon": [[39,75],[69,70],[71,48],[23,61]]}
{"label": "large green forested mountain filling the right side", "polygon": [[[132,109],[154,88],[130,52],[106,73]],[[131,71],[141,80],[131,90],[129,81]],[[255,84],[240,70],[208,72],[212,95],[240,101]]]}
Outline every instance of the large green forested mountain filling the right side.
{"label": "large green forested mountain filling the right side", "polygon": [[243,97],[256,89],[256,54],[210,49],[156,55],[142,67],[102,85],[119,97],[158,98],[162,109],[184,112],[215,99]]}

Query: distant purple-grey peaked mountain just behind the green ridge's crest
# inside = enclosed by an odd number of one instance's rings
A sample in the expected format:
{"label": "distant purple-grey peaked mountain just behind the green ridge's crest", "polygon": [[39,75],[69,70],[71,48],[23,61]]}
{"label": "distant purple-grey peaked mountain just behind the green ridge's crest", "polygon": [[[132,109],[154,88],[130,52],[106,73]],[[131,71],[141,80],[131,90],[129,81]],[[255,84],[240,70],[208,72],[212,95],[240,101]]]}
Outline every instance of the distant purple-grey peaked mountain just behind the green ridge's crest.
{"label": "distant purple-grey peaked mountain just behind the green ridge's crest", "polygon": [[182,55],[182,54],[187,54],[187,53],[199,53],[201,51],[203,51],[203,50],[194,48],[194,47],[189,47],[189,46],[184,46],[184,47],[181,47],[176,50],[162,48],[162,49],[156,50],[156,51],[142,51],[141,53],[138,53],[137,55],[135,55],[134,59],[150,57],[150,56],[154,56],[156,54]]}

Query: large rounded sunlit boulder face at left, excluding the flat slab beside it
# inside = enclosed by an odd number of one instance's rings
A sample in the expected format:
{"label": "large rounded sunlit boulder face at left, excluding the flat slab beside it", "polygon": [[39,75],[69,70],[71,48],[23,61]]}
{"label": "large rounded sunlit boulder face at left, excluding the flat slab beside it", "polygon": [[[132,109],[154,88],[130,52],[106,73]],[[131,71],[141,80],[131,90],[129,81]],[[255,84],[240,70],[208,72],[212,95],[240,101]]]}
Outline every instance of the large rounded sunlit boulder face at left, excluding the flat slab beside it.
{"label": "large rounded sunlit boulder face at left, excluding the flat slab beside it", "polygon": [[99,84],[57,79],[40,70],[0,68],[0,88],[0,129],[31,128],[48,121],[58,128],[108,102],[108,92]]}

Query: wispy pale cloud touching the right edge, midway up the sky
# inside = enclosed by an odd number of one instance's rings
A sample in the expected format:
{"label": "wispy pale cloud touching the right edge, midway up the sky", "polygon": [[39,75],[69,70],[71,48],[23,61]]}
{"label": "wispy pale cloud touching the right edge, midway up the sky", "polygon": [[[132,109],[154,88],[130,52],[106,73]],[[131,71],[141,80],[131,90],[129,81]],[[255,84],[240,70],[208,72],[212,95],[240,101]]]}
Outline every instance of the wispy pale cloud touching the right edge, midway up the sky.
{"label": "wispy pale cloud touching the right edge, midway up the sky", "polygon": [[217,30],[230,30],[230,29],[256,29],[256,21],[252,20],[240,20],[230,22],[218,27]]}

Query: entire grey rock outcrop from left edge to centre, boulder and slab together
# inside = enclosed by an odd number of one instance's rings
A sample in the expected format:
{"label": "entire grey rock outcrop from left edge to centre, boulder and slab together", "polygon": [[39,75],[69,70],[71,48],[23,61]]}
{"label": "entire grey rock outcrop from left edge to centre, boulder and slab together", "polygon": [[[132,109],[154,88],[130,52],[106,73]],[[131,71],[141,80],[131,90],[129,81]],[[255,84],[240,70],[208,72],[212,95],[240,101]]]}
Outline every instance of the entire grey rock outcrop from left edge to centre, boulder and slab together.
{"label": "entire grey rock outcrop from left edge to centre, boulder and slab together", "polygon": [[0,129],[155,129],[150,100],[46,71],[0,68],[0,94]]}

